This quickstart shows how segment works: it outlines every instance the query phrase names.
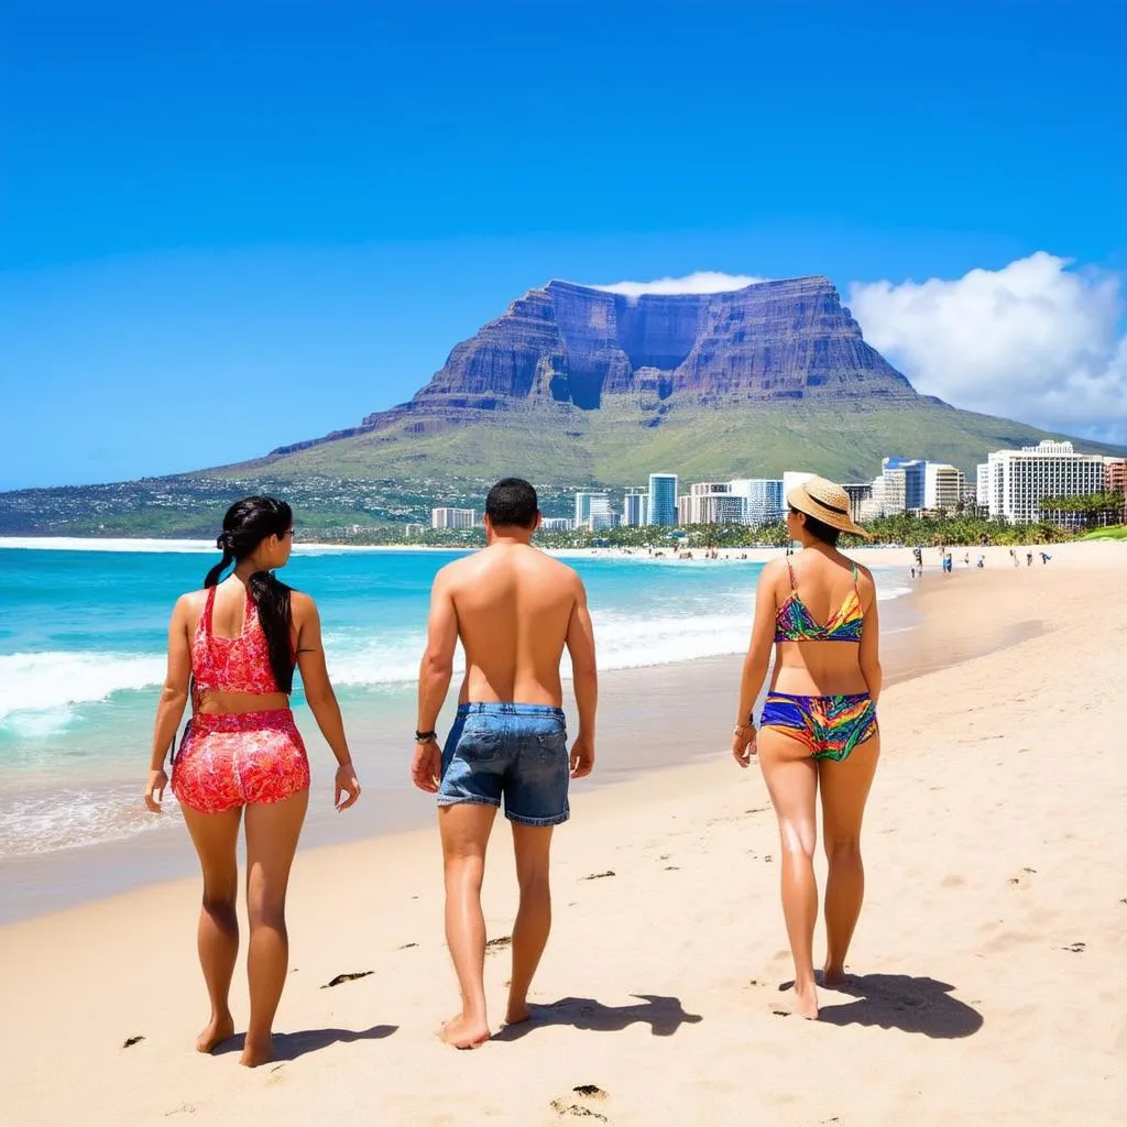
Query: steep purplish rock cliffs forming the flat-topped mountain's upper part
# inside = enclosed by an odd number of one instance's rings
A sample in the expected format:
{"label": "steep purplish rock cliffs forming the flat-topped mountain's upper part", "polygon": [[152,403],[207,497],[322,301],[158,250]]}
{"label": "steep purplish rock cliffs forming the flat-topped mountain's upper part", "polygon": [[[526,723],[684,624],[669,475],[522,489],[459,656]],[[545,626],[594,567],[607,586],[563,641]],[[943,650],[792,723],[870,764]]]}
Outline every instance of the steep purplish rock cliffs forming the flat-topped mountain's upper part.
{"label": "steep purplish rock cliffs forming the flat-topped mountain's upper part", "polygon": [[550,282],[458,345],[408,409],[540,401],[595,410],[609,397],[645,407],[671,397],[719,403],[916,393],[864,343],[827,278],[637,299]]}

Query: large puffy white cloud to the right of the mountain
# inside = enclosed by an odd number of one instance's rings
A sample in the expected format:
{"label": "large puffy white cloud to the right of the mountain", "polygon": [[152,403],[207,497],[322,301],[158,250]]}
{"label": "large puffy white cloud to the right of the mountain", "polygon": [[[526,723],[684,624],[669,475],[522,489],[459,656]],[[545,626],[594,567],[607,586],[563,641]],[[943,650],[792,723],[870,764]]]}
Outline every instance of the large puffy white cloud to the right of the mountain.
{"label": "large puffy white cloud to the right of the mountain", "polygon": [[1127,442],[1122,278],[1038,251],[999,270],[855,282],[866,339],[956,407]]}

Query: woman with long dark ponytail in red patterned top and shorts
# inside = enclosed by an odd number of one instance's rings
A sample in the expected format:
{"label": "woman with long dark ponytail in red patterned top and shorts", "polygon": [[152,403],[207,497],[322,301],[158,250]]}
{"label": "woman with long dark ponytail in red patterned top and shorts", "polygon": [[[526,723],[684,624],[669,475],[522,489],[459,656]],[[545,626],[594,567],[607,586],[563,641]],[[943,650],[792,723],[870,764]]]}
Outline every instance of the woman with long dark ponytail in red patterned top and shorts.
{"label": "woman with long dark ponytail in red patterned top and shorts", "polygon": [[[273,497],[228,509],[216,541],[223,559],[204,589],[181,595],[168,630],[168,675],[157,709],[145,804],[156,814],[190,690],[192,717],[172,761],[172,793],[203,869],[197,946],[211,1020],[196,1040],[210,1053],[234,1033],[228,1004],[239,951],[236,916],[239,823],[246,810],[250,920],[250,1022],[242,1063],[273,1057],[270,1028],[290,956],[285,894],[309,804],[309,761],[290,711],[294,665],[305,699],[337,758],[337,809],[360,797],[340,709],[325,668],[317,606],[274,578],[290,559],[293,514]],[[219,583],[231,565],[234,570]]]}

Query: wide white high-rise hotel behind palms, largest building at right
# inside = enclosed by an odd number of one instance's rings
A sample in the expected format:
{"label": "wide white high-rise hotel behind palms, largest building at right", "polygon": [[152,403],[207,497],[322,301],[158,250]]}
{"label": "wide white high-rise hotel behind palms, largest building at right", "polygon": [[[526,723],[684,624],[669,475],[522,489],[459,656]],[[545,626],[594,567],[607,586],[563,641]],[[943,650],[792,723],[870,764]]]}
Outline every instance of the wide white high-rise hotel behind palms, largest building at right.
{"label": "wide white high-rise hotel behind palms, largest building at right", "polygon": [[994,451],[978,467],[978,503],[990,507],[991,517],[1031,524],[1040,520],[1042,500],[1100,492],[1103,481],[1099,454],[1077,454],[1071,442],[1046,441],[1021,450]]}

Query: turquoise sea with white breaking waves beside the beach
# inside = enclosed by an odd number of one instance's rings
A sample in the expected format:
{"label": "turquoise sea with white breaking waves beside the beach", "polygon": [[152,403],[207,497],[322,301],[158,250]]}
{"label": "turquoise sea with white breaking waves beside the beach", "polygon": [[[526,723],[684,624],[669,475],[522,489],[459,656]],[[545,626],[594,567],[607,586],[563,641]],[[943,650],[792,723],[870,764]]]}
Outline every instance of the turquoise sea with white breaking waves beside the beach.
{"label": "turquoise sea with white breaking waves beside the beach", "polygon": [[[168,615],[218,556],[185,542],[79,544],[0,547],[0,863],[159,835],[179,820],[175,799],[174,817],[156,818],[140,793]],[[405,734],[365,749],[369,786],[406,786],[431,582],[456,554],[299,544],[281,573],[318,602],[349,728]],[[603,669],[735,654],[747,644],[760,564],[569,562],[587,586]],[[882,597],[899,593],[884,586]],[[331,774],[300,690],[294,709],[314,780]]]}

